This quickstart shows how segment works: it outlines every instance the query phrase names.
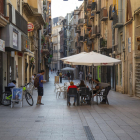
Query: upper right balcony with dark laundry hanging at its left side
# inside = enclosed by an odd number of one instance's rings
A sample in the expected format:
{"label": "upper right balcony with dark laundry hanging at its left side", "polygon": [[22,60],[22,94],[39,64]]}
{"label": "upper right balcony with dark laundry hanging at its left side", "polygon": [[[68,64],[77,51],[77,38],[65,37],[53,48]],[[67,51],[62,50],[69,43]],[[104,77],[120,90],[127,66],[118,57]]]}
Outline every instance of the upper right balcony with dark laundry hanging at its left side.
{"label": "upper right balcony with dark laundry hanging at its left side", "polygon": [[122,14],[120,14],[120,17],[117,15],[117,12],[114,12],[113,14],[113,28],[120,28],[123,26],[122,23]]}

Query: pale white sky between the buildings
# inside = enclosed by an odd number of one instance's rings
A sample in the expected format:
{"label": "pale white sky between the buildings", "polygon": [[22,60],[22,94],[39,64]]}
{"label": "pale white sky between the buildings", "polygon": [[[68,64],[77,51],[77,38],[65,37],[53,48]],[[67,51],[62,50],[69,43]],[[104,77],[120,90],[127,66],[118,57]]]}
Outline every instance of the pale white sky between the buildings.
{"label": "pale white sky between the buildings", "polygon": [[63,16],[65,17],[67,13],[71,13],[76,9],[76,6],[80,6],[83,1],[78,0],[51,0],[52,1],[52,7],[51,7],[51,13],[52,18]]}

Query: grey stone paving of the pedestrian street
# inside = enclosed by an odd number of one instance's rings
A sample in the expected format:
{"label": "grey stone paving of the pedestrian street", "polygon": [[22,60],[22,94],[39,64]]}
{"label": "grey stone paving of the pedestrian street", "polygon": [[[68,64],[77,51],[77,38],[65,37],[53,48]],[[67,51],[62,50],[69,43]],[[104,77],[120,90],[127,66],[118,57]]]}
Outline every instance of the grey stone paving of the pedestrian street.
{"label": "grey stone paving of the pedestrian street", "polygon": [[111,91],[110,105],[68,107],[62,96],[56,99],[54,75],[44,84],[45,105],[36,105],[34,91],[33,107],[25,99],[23,108],[0,106],[0,140],[92,140],[85,126],[95,140],[140,140],[139,99]]}

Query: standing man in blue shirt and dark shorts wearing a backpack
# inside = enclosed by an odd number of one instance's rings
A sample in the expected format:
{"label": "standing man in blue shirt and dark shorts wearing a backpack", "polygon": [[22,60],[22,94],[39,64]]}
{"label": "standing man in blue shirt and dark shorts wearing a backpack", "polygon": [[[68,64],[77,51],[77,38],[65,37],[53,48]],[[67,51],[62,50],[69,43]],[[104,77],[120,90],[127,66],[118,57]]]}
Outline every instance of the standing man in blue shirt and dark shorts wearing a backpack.
{"label": "standing man in blue shirt and dark shorts wearing a backpack", "polygon": [[45,74],[44,70],[41,70],[39,74],[37,74],[37,77],[39,77],[39,86],[38,86],[38,97],[37,97],[37,103],[36,105],[44,105],[41,103],[41,99],[43,96],[43,83],[46,83],[46,80],[43,80],[43,75]]}

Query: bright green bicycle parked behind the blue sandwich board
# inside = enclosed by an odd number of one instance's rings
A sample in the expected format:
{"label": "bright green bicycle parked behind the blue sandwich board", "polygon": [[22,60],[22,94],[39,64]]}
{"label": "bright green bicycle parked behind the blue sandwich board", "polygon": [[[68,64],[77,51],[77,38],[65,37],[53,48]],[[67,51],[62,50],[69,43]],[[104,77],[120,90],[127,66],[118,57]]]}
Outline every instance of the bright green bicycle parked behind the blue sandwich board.
{"label": "bright green bicycle parked behind the blue sandwich board", "polygon": [[[27,91],[27,88],[26,88],[27,85],[29,85],[29,83],[27,83],[27,84],[25,84],[25,86],[21,86],[21,87],[23,87],[23,92],[24,92],[24,94],[25,94],[25,99],[26,99],[27,103],[28,103],[30,106],[33,106],[34,100],[33,100],[32,96],[31,96],[31,94]],[[19,92],[17,92],[16,94],[18,94],[18,93],[19,93]],[[2,94],[2,97],[3,97],[2,102],[1,102],[2,105],[4,105],[4,106],[9,106],[9,105],[11,105],[11,99],[12,99],[12,94],[11,94],[11,92],[5,91],[5,92]],[[18,102],[16,102],[16,103],[18,103]]]}

